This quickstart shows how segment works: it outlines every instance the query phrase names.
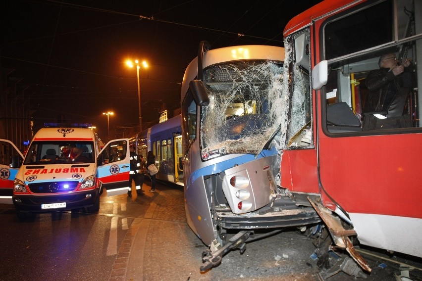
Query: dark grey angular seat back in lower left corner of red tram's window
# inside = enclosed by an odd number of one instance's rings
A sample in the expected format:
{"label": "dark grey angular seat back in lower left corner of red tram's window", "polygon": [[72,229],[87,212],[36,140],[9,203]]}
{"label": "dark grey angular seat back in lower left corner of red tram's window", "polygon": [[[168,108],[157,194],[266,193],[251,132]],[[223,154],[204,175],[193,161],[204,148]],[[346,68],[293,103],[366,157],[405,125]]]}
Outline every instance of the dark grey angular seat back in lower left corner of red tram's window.
{"label": "dark grey angular seat back in lower left corner of red tram's window", "polygon": [[346,102],[327,106],[327,128],[331,133],[362,131],[361,121]]}

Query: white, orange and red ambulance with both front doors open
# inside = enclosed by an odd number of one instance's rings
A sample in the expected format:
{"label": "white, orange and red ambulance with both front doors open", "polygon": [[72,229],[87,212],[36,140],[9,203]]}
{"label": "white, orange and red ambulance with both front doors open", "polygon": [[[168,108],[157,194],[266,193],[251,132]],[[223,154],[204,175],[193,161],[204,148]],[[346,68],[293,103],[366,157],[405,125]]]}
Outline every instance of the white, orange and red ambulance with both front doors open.
{"label": "white, orange and red ambulance with both front doors open", "polygon": [[25,155],[0,139],[0,203],[13,203],[17,216],[24,219],[40,212],[79,208],[96,213],[104,188],[108,196],[127,193],[129,140],[104,145],[89,127],[45,124]]}

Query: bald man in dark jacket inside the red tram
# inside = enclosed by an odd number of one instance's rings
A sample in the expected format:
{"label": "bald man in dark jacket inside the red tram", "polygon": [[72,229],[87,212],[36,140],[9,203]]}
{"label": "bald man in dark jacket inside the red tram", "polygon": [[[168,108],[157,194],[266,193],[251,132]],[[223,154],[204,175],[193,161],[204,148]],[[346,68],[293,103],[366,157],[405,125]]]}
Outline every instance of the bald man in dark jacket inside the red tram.
{"label": "bald man in dark jacket inside the red tram", "polygon": [[399,117],[412,89],[413,65],[405,59],[399,65],[394,53],[379,58],[380,69],[369,72],[366,85],[365,113],[386,111],[386,117]]}

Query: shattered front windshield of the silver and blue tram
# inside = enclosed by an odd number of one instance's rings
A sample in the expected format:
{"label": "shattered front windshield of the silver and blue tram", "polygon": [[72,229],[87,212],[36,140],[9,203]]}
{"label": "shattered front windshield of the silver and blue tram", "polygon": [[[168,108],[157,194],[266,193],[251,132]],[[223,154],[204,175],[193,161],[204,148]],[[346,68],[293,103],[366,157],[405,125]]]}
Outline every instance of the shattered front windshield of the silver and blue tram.
{"label": "shattered front windshield of the silver and blue tram", "polygon": [[282,104],[282,62],[212,65],[204,71],[204,83],[210,104],[202,107],[203,151],[259,154],[279,128],[276,108]]}

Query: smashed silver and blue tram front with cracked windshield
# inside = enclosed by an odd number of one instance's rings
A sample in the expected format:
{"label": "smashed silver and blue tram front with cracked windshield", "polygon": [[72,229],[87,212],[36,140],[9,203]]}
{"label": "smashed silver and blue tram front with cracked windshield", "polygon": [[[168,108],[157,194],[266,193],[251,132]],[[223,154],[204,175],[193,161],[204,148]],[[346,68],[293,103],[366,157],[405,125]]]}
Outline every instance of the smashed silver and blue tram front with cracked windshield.
{"label": "smashed silver and blue tram front with cracked windshield", "polygon": [[189,226],[210,246],[202,271],[218,265],[230,249],[243,252],[258,232],[262,237],[320,221],[312,207],[297,206],[279,188],[280,124],[287,116],[272,104],[288,98],[283,61],[282,47],[210,50],[201,42],[186,69],[185,210]]}

